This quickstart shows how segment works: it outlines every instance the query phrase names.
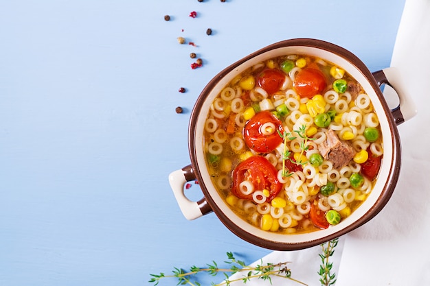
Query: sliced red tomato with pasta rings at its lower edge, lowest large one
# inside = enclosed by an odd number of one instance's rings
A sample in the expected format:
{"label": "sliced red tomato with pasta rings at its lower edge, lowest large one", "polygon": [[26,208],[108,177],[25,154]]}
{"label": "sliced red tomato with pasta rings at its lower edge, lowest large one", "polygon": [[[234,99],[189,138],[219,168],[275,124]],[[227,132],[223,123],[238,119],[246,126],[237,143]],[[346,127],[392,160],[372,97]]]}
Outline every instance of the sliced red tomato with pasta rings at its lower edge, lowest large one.
{"label": "sliced red tomato with pasta rings at its lower edge, lowest large one", "polygon": [[233,171],[233,187],[231,192],[238,198],[252,200],[252,193],[245,195],[240,191],[239,184],[245,180],[252,182],[254,191],[267,189],[270,193],[267,202],[270,202],[282,189],[278,180],[278,170],[262,156],[251,156],[239,163]]}

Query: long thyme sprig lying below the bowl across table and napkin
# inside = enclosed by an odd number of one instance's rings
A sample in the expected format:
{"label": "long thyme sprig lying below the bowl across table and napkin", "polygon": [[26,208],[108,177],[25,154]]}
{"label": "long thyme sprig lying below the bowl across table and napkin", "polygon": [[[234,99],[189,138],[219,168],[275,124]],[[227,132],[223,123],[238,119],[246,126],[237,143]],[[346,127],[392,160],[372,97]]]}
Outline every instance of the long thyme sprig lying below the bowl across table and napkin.
{"label": "long thyme sprig lying below the bowl across table and napkin", "polygon": [[[192,266],[190,267],[190,271],[185,271],[183,269],[179,269],[177,267],[174,267],[174,270],[172,270],[172,275],[166,275],[164,273],[160,274],[150,274],[152,278],[150,279],[150,283],[155,283],[155,285],[158,285],[161,278],[177,278],[178,284],[177,285],[191,285],[191,286],[201,286],[201,284],[196,281],[194,276],[199,273],[206,273],[211,276],[216,276],[218,273],[222,273],[225,276],[225,280],[222,283],[211,285],[213,286],[220,286],[220,285],[226,285],[229,286],[231,283],[235,281],[242,281],[243,283],[247,283],[247,281],[250,281],[251,279],[262,279],[263,281],[271,281],[271,277],[278,276],[282,278],[289,279],[291,281],[297,282],[301,285],[306,285],[305,283],[302,283],[301,281],[298,281],[291,277],[291,270],[287,267],[288,262],[281,262],[281,263],[267,263],[265,265],[262,264],[262,262],[256,266],[250,266],[246,265],[244,261],[237,260],[233,253],[227,252],[227,258],[228,261],[224,261],[225,263],[231,264],[230,268],[219,268],[218,264],[215,261],[212,261],[212,264],[207,264],[207,267],[196,267]],[[244,275],[239,278],[230,278],[230,275],[235,273],[243,273]]]}

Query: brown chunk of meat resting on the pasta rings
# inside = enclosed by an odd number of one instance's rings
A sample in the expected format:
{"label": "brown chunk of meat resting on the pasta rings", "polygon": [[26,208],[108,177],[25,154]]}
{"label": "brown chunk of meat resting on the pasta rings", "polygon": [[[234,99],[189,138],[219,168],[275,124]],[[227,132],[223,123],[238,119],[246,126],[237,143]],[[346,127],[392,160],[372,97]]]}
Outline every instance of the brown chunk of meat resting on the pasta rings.
{"label": "brown chunk of meat resting on the pasta rings", "polygon": [[331,129],[326,132],[326,136],[326,141],[318,145],[321,156],[333,163],[335,169],[348,165],[354,158],[355,150],[346,141],[341,141]]}

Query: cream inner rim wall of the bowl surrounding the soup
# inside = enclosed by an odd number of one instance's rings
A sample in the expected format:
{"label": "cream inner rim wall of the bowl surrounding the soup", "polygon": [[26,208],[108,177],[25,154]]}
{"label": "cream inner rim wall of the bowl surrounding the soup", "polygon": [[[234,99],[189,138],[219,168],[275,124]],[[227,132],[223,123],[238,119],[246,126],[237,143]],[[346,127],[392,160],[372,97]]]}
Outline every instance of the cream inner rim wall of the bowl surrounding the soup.
{"label": "cream inner rim wall of the bowl surrounding the soup", "polygon": [[[216,191],[215,187],[211,184],[212,180],[210,178],[210,175],[207,171],[206,163],[205,163],[205,156],[203,154],[203,130],[204,130],[204,124],[205,119],[207,117],[207,114],[210,110],[210,106],[214,100],[214,98],[220,93],[220,91],[223,89],[225,85],[227,85],[232,78],[234,78],[236,75],[242,73],[242,71],[245,71],[249,67],[252,67],[254,64],[257,64],[258,62],[262,62],[263,60],[267,60],[269,58],[274,58],[277,56],[283,56],[286,54],[306,54],[310,56],[316,56],[319,58],[322,58],[324,60],[327,60],[328,62],[332,62],[333,64],[336,64],[339,67],[342,67],[345,69],[350,75],[352,75],[353,78],[355,78],[361,86],[363,86],[365,92],[367,95],[369,95],[370,99],[372,100],[372,104],[374,106],[374,109],[376,110],[376,114],[378,115],[378,119],[381,124],[381,130],[382,130],[382,136],[383,136],[383,147],[384,147],[384,157],[383,162],[381,164],[381,169],[378,174],[378,180],[376,181],[376,184],[368,196],[368,198],[355,210],[349,217],[346,219],[343,219],[342,222],[335,226],[330,226],[329,228],[325,230],[317,230],[311,233],[299,233],[299,234],[292,234],[292,235],[285,235],[281,233],[271,233],[264,230],[261,230],[260,228],[257,228],[256,226],[253,226],[249,224],[248,222],[245,222],[242,218],[238,217],[232,211],[227,204],[223,201],[223,198],[220,197],[218,194],[218,191]],[[266,239],[269,241],[275,241],[280,243],[301,243],[304,241],[313,241],[315,239],[321,239],[322,237],[326,237],[328,235],[335,234],[339,232],[339,230],[346,228],[353,222],[356,222],[357,219],[363,217],[374,204],[378,200],[379,196],[381,195],[381,192],[386,184],[385,178],[389,176],[390,167],[392,165],[392,158],[393,158],[393,142],[392,142],[392,135],[389,128],[388,119],[385,115],[384,108],[381,104],[381,102],[378,99],[378,96],[376,95],[376,92],[372,88],[371,84],[366,80],[365,76],[357,67],[355,67],[351,62],[346,60],[345,58],[342,58],[341,56],[338,56],[335,53],[332,53],[330,51],[326,51],[324,49],[318,49],[315,47],[306,47],[306,46],[292,46],[292,47],[280,47],[277,49],[272,49],[270,51],[266,51],[264,53],[260,53],[258,56],[252,58],[251,60],[248,60],[247,62],[244,62],[240,64],[236,69],[230,71],[220,79],[220,81],[214,86],[212,91],[210,91],[210,94],[207,96],[207,99],[203,103],[203,106],[201,106],[201,112],[199,114],[199,117],[197,117],[196,122],[196,130],[195,131],[195,137],[194,137],[194,147],[196,149],[196,161],[199,165],[199,169],[201,172],[201,176],[203,178],[203,181],[206,182],[207,191],[210,193],[212,199],[217,204],[217,206],[220,208],[220,210],[231,219],[231,222],[234,222],[239,228],[242,228],[242,230],[245,230],[248,233],[251,233],[255,235],[256,237],[260,237],[262,239]]]}

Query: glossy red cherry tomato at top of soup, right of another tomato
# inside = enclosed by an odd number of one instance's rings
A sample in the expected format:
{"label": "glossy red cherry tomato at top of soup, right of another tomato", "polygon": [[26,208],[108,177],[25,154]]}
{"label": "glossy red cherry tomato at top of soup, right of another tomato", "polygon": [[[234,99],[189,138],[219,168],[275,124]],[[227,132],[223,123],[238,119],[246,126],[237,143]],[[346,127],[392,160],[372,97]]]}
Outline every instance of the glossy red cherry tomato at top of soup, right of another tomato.
{"label": "glossy red cherry tomato at top of soup, right of another tomato", "polygon": [[326,77],[319,69],[306,68],[295,76],[293,86],[300,97],[312,98],[324,91],[327,86]]}

